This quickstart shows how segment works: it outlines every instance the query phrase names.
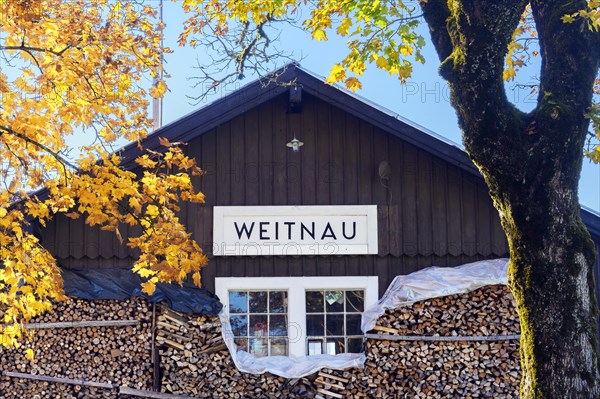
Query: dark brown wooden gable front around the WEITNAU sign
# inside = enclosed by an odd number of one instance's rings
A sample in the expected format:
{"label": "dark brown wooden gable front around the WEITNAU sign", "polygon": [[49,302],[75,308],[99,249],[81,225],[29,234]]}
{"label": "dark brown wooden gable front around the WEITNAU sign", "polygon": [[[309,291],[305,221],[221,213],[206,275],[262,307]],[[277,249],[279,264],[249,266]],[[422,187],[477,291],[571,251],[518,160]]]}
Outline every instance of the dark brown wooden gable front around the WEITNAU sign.
{"label": "dark brown wooden gable front around the WEITNAU sign", "polygon": [[[399,274],[508,256],[485,183],[462,151],[291,69],[304,88],[299,113],[288,112],[288,88],[251,86],[149,139],[186,140],[207,172],[195,180],[206,203],[184,205],[181,218],[210,254],[215,205],[374,204],[379,254],[211,257],[207,288],[215,276],[376,275],[382,295]],[[305,143],[297,153],[285,146],[294,135]],[[597,216],[586,212],[586,223],[598,229]],[[135,258],[113,234],[64,217],[43,230],[43,243],[67,268],[130,267]]]}

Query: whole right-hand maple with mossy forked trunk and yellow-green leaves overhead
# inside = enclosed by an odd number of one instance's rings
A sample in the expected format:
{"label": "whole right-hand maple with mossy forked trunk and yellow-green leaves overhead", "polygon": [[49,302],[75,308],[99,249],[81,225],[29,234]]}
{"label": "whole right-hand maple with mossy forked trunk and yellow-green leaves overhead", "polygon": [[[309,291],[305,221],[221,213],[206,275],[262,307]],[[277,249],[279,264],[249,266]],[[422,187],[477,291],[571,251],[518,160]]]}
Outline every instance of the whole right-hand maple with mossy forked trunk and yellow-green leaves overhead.
{"label": "whole right-hand maple with mossy forked trunk and yellow-green leaves overhead", "polygon": [[[182,43],[222,38],[234,72],[268,60],[268,29],[299,22],[315,40],[347,37],[327,81],[361,87],[368,65],[401,81],[423,62],[425,22],[448,81],[465,148],[484,177],[510,248],[521,318],[522,398],[600,396],[595,250],[580,218],[584,148],[600,161],[600,2],[597,0],[184,0]],[[309,11],[306,18],[298,11]],[[275,53],[276,55],[276,53]],[[536,107],[511,104],[505,81],[541,57]],[[226,60],[227,58],[223,58]],[[226,65],[226,64],[224,64]],[[596,97],[593,97],[594,84]],[[590,129],[590,121],[591,130]],[[594,141],[595,137],[596,141]],[[587,146],[586,146],[587,145]]]}

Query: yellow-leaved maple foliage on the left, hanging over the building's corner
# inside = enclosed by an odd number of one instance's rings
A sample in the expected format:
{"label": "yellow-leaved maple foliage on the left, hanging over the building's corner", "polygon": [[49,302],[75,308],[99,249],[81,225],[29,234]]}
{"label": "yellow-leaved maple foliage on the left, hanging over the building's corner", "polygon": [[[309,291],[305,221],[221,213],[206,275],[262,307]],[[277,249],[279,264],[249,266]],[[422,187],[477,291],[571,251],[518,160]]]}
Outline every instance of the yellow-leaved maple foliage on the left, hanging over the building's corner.
{"label": "yellow-leaved maple foliage on the left, hanging over the building's corner", "polygon": [[[139,226],[127,245],[140,250],[133,269],[146,293],[189,274],[200,285],[207,259],[177,211],[203,202],[190,180],[202,171],[164,139],[134,171],[113,151],[152,126],[149,99],[166,90],[161,29],[137,1],[0,0],[0,344],[19,345],[22,323],[63,298],[31,229],[57,213],[119,237],[120,225]],[[75,133],[91,139],[71,155]]]}

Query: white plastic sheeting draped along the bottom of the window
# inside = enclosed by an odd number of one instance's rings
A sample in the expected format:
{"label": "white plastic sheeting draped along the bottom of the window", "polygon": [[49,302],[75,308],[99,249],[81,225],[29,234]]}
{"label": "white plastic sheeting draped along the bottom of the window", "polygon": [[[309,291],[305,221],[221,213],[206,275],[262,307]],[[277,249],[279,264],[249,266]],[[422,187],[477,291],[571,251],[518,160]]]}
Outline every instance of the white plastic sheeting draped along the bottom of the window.
{"label": "white plastic sheeting draped along the bottom of the window", "polygon": [[322,368],[343,370],[364,367],[364,353],[344,353],[339,355],[268,356],[256,357],[246,351],[238,351],[235,346],[233,332],[229,324],[229,316],[225,309],[219,315],[222,323],[223,339],[231,353],[238,370],[250,374],[269,372],[284,378],[301,378],[316,373]]}

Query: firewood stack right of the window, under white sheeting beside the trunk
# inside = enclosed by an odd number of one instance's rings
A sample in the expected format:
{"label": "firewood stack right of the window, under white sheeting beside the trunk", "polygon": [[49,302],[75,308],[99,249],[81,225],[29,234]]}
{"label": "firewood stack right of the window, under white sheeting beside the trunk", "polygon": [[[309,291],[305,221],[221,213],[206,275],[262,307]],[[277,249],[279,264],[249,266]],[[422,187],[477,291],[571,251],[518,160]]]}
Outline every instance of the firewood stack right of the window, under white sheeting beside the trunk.
{"label": "firewood stack right of the window, under white sheeting beside the trunk", "polygon": [[518,397],[519,319],[504,286],[388,311],[373,333],[364,370],[320,373],[323,398]]}

